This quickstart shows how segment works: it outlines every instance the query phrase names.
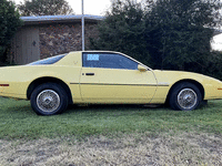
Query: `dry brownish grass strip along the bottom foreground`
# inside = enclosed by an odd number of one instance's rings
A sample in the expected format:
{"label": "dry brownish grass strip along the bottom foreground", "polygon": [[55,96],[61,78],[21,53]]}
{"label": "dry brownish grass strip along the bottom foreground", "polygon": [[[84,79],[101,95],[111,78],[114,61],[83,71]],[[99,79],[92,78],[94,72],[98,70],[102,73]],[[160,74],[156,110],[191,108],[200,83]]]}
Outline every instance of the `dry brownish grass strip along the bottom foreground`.
{"label": "dry brownish grass strip along the bottom foreground", "polygon": [[0,141],[0,165],[216,165],[222,166],[222,136],[135,133],[118,138],[72,137]]}

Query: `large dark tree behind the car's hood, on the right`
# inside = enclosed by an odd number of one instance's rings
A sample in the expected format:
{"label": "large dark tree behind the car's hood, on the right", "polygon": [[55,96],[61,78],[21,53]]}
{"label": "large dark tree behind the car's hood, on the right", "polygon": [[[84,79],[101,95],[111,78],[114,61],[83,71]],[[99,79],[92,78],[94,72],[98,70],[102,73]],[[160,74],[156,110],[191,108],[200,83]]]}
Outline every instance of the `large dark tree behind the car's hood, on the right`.
{"label": "large dark tree behind the car's hood, on the right", "polygon": [[158,0],[147,13],[149,51],[158,69],[201,72],[211,51],[218,0]]}

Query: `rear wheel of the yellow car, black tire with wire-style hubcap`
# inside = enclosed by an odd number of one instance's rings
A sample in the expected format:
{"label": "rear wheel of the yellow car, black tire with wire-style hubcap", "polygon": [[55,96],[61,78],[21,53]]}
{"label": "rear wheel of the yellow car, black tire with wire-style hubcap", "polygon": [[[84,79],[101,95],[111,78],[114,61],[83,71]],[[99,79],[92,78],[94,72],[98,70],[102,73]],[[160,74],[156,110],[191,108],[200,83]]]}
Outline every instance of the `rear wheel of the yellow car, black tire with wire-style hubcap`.
{"label": "rear wheel of the yellow car, black tire with wire-style hubcap", "polygon": [[44,83],[34,89],[30,102],[38,115],[54,115],[67,110],[68,95],[59,84]]}

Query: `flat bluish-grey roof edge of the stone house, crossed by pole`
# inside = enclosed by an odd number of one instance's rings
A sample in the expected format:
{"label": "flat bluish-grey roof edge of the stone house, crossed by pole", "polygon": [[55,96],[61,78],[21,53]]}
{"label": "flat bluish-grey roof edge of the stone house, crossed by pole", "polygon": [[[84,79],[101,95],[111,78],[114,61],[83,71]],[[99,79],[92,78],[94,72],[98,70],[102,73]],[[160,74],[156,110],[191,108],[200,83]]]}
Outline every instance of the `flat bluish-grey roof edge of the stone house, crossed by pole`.
{"label": "flat bluish-grey roof edge of the stone house, crossed by pole", "polygon": [[[24,24],[43,24],[43,23],[60,23],[60,22],[80,22],[82,15],[40,15],[40,17],[21,17]],[[84,15],[85,22],[98,22],[104,19],[99,15]]]}

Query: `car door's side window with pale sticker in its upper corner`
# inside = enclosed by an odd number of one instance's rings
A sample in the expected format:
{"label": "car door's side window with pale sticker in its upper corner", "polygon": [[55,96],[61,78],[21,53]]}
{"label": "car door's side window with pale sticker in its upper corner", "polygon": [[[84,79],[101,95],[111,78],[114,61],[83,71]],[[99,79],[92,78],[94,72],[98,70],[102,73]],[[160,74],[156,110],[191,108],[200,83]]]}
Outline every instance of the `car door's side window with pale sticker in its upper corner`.
{"label": "car door's side window with pale sticker in its upper corner", "polygon": [[138,70],[138,63],[114,53],[83,53],[84,68]]}

